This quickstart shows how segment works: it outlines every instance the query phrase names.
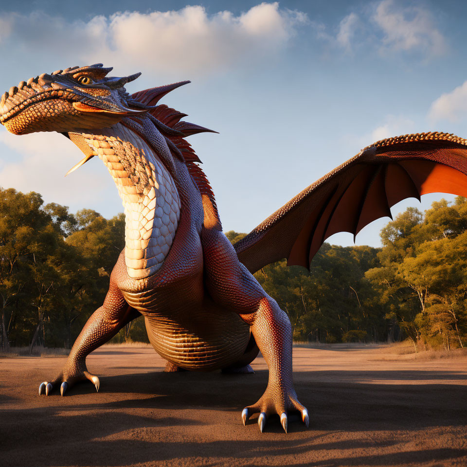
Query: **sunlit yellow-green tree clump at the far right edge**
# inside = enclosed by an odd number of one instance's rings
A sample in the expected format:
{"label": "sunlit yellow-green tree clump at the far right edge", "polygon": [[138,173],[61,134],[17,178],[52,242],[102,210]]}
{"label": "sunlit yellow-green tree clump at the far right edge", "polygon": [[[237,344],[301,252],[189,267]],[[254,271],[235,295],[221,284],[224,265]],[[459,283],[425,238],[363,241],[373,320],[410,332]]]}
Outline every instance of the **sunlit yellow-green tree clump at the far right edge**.
{"label": "sunlit yellow-green tree clump at the far right edge", "polygon": [[381,231],[384,245],[379,268],[367,279],[380,290],[386,316],[425,348],[451,341],[463,347],[466,322],[465,247],[467,204],[456,198],[434,202],[424,214],[415,208],[389,222]]}

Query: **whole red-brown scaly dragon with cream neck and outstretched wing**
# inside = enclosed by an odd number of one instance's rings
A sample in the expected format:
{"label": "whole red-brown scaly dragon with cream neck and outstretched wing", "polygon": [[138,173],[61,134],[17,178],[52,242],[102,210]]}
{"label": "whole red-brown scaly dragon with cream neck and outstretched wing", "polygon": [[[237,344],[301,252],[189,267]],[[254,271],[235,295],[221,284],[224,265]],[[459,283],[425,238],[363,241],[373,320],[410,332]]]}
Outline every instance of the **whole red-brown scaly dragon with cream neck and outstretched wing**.
{"label": "whole red-brown scaly dragon with cream neck and outstretched wing", "polygon": [[141,73],[108,77],[102,64],[43,73],[1,96],[0,122],[22,135],[56,131],[84,153],[75,170],[98,156],[107,166],[126,215],[125,248],[112,270],[104,303],[89,318],[61,372],[39,395],[69,392],[81,380],[100,381],[87,355],[143,315],[165,371],[251,373],[261,351],[269,380],[244,408],[245,425],[259,413],[264,430],[279,415],[309,415],[292,379],[292,331],[287,314],[253,273],[287,258],[309,268],[324,240],[356,235],[390,216],[398,201],[433,192],[467,196],[467,141],[429,132],[378,141],[305,188],[242,240],[231,245],[213,190],[186,137],[208,128],[160,99],[189,81],[126,92]]}

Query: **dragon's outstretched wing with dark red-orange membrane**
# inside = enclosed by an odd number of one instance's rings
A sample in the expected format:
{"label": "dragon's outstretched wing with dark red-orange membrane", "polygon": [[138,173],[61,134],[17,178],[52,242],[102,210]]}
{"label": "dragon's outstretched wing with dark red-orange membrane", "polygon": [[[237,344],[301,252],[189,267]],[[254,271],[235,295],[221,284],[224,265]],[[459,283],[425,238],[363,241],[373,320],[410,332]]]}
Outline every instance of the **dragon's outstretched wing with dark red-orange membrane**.
{"label": "dragon's outstretched wing with dark red-orange membrane", "polygon": [[[310,267],[324,240],[355,235],[405,198],[427,193],[467,197],[467,140],[420,133],[378,141],[311,184],[235,243],[250,272],[287,258]],[[392,217],[391,217],[392,218]]]}

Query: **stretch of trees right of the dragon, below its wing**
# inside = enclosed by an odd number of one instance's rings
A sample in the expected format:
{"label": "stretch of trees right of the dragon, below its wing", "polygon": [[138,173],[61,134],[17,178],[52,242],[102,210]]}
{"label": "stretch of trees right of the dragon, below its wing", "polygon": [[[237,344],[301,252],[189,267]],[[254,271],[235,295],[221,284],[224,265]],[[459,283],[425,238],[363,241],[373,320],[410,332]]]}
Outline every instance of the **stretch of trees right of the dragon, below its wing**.
{"label": "stretch of trees right of the dragon, below its wing", "polygon": [[[245,234],[227,236],[235,243]],[[255,277],[287,312],[296,341],[466,346],[466,198],[442,199],[424,213],[408,208],[380,238],[382,248],[324,243],[310,273],[283,260]]]}

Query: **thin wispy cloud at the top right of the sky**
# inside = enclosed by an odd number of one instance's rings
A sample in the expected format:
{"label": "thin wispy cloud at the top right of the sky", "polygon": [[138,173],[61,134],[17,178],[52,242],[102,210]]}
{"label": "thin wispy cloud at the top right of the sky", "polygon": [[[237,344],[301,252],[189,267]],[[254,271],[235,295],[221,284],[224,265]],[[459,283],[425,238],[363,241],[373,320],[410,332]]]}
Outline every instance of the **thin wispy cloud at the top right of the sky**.
{"label": "thin wispy cloud at the top right of the sky", "polygon": [[433,56],[446,50],[446,40],[427,8],[402,8],[392,0],[383,0],[372,19],[383,33],[382,51],[414,51]]}

